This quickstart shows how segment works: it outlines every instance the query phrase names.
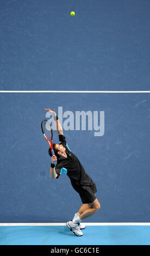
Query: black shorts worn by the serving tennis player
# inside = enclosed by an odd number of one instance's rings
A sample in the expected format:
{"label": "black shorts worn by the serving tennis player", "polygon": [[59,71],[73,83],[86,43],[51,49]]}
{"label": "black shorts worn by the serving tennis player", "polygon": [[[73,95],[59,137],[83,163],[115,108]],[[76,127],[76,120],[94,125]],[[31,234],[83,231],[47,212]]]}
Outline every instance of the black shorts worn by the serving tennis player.
{"label": "black shorts worn by the serving tennis player", "polygon": [[97,189],[94,182],[89,186],[72,186],[79,193],[83,204],[90,204],[96,199]]}

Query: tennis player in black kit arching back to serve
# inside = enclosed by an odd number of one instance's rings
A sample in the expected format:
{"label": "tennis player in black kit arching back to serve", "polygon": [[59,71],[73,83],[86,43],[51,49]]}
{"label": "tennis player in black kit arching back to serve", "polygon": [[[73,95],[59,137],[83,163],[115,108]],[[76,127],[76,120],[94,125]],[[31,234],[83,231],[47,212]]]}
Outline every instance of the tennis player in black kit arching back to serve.
{"label": "tennis player in black kit arching back to serve", "polygon": [[[81,223],[82,220],[95,214],[101,207],[95,196],[97,192],[96,185],[85,172],[77,156],[68,148],[55,109],[52,111],[50,108],[45,108],[45,110],[53,115],[60,142],[59,144],[53,143],[54,156],[52,156],[51,148],[48,150],[52,157],[50,175],[52,179],[58,179],[62,173],[65,173],[70,178],[74,190],[79,193],[83,204],[72,221],[68,221],[66,225],[75,235],[82,236],[81,229],[85,228],[85,225]],[[55,161],[57,161],[56,166]]]}

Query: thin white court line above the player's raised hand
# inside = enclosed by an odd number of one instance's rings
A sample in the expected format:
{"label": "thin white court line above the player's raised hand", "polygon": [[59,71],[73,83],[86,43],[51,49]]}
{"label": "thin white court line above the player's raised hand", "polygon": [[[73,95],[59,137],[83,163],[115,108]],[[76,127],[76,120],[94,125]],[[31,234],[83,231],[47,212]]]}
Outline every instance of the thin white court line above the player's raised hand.
{"label": "thin white court line above the player's raised hand", "polygon": [[0,93],[150,93],[150,90],[0,90]]}

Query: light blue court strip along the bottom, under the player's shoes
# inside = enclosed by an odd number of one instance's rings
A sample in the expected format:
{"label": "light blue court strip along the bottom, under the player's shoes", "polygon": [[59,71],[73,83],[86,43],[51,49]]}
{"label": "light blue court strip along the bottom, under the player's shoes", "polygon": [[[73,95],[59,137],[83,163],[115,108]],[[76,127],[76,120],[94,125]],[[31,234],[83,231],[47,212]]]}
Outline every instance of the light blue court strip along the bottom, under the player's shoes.
{"label": "light blue court strip along the bottom, under the player's shoes", "polygon": [[59,226],[0,227],[0,245],[149,245],[149,225],[87,225],[77,237]]}

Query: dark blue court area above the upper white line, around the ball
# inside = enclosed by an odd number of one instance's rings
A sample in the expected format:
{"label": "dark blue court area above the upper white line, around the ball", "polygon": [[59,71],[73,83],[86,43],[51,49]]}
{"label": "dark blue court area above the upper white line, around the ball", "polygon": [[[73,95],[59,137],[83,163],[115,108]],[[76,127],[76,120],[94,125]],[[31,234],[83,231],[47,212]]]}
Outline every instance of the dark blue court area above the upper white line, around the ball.
{"label": "dark blue court area above the upper white line, around the ball", "polygon": [[1,89],[149,88],[149,0],[1,0],[0,8]]}

